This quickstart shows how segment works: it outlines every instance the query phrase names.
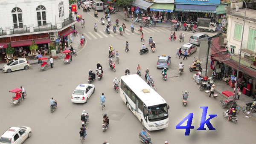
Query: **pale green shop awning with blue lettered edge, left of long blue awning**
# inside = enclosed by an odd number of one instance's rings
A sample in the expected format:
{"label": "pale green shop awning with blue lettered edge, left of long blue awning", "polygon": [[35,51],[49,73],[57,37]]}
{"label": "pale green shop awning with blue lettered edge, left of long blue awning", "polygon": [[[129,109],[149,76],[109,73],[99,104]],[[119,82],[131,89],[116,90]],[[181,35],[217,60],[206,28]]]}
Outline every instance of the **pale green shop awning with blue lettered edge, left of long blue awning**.
{"label": "pale green shop awning with blue lettered edge, left of long blue awning", "polygon": [[174,3],[154,3],[150,7],[150,11],[173,12]]}

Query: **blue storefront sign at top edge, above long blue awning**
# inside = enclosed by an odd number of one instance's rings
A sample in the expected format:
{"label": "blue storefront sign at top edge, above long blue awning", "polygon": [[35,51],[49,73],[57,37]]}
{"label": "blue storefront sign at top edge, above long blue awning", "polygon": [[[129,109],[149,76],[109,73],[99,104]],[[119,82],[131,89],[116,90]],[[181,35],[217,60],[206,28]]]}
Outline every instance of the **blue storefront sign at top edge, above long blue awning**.
{"label": "blue storefront sign at top edge, above long blue awning", "polygon": [[218,6],[221,0],[175,0],[175,4]]}

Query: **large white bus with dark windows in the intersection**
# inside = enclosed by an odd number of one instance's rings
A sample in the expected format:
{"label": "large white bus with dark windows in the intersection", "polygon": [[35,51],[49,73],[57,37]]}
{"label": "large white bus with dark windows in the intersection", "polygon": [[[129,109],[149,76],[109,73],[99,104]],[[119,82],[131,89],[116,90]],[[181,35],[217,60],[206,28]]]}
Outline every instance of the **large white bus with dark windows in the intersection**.
{"label": "large white bus with dark windows in the intersection", "polygon": [[169,105],[139,75],[121,77],[120,96],[146,129],[168,127]]}

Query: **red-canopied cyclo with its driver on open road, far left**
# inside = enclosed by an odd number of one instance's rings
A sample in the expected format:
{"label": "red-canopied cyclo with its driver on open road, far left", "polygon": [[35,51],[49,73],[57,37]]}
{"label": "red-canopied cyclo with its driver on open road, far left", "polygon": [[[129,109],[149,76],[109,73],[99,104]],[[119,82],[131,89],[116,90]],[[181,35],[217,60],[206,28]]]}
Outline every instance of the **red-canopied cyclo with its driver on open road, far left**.
{"label": "red-canopied cyclo with its driver on open road, far left", "polygon": [[22,90],[21,89],[12,89],[12,90],[9,90],[9,92],[12,92],[13,93],[13,96],[12,96],[12,100],[11,100],[11,104],[18,104],[20,105],[21,104],[21,101],[23,101],[24,99],[26,99],[26,92],[23,93],[23,97],[22,97]]}

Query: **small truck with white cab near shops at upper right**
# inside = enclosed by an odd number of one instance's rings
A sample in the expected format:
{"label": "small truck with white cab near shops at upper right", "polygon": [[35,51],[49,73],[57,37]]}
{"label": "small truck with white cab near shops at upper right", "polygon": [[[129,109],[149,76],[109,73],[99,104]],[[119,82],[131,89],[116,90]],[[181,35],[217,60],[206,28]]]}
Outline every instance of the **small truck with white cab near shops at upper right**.
{"label": "small truck with white cab near shops at upper right", "polygon": [[199,18],[198,29],[200,29],[200,32],[203,32],[204,30],[215,32],[217,30],[217,26],[216,26],[216,23],[211,22],[211,19]]}

